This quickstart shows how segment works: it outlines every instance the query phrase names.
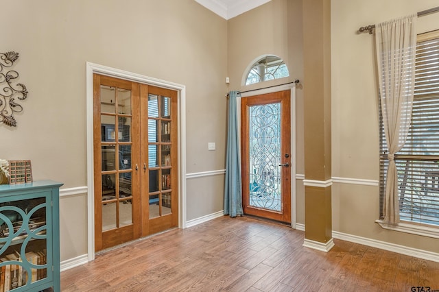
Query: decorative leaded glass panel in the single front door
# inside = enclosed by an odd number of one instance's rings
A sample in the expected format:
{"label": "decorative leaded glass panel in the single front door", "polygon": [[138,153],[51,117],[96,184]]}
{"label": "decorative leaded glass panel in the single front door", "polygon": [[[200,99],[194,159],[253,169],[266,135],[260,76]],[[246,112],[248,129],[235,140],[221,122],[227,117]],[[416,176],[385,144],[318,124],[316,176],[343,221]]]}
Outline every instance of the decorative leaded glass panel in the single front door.
{"label": "decorative leaded glass panel in the single front door", "polygon": [[250,206],[281,210],[281,104],[249,108]]}

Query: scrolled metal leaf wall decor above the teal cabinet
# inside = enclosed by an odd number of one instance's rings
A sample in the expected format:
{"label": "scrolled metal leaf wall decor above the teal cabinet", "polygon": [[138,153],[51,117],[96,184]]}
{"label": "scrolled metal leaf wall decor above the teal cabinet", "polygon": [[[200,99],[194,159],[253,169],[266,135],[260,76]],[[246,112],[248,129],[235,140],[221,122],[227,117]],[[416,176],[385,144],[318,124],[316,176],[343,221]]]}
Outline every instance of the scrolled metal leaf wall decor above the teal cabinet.
{"label": "scrolled metal leaf wall decor above the teal cabinet", "polygon": [[18,58],[19,53],[14,51],[0,53],[0,123],[10,127],[16,127],[14,113],[23,111],[23,106],[17,104],[15,99],[26,99],[27,89],[24,84],[12,84],[19,77],[17,71],[4,72],[3,69],[6,71]]}

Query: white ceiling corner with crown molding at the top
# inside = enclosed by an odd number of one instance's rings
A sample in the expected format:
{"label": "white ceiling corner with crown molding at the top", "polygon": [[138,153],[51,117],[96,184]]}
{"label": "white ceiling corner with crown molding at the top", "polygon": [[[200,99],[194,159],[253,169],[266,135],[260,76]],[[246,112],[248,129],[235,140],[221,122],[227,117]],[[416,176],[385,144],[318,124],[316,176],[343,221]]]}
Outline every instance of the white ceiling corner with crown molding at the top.
{"label": "white ceiling corner with crown molding at the top", "polygon": [[271,0],[195,0],[224,19],[231,19]]}

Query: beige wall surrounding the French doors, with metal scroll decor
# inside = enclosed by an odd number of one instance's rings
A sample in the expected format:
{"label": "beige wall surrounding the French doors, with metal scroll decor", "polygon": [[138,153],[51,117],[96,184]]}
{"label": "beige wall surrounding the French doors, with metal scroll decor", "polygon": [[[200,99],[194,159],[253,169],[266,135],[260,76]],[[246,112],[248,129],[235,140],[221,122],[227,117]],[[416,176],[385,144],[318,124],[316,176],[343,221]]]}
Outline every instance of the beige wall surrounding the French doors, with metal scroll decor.
{"label": "beige wall surrounding the French doors, with metal scroll decor", "polygon": [[[32,160],[34,180],[86,186],[85,74],[93,62],[185,85],[187,173],[224,169],[224,19],[193,0],[17,0],[1,20],[1,51],[20,53],[14,69],[29,97],[18,127],[0,125],[0,158]],[[223,209],[222,184],[198,190],[188,184],[188,220]],[[61,260],[86,254],[86,195],[62,197],[60,213]]]}

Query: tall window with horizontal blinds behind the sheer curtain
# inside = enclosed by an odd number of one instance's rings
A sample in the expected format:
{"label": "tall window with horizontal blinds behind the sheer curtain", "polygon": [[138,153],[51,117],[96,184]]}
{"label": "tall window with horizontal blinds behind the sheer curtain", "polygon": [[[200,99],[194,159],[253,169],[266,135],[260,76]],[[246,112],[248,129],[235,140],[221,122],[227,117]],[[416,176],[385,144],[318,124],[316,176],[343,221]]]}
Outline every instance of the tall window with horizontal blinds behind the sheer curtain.
{"label": "tall window with horizontal blinds behind the sheer curtain", "polygon": [[[380,108],[381,117],[381,108]],[[380,202],[388,169],[382,117]],[[418,36],[412,125],[395,155],[401,220],[439,226],[439,31]]]}

